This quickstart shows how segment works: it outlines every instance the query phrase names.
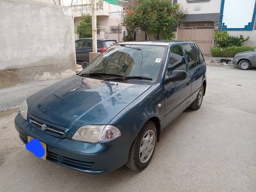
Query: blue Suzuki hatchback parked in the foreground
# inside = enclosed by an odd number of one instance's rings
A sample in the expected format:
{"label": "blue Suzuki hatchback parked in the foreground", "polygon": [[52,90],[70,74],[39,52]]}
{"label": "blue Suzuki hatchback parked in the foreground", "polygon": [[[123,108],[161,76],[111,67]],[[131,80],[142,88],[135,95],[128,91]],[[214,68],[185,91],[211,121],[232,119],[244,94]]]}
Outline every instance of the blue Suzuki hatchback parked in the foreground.
{"label": "blue Suzuki hatchback parked in the foreground", "polygon": [[28,97],[15,128],[25,144],[42,142],[42,158],[53,163],[89,173],[124,164],[141,171],[162,130],[186,108],[199,109],[205,90],[196,43],[118,43],[77,75]]}

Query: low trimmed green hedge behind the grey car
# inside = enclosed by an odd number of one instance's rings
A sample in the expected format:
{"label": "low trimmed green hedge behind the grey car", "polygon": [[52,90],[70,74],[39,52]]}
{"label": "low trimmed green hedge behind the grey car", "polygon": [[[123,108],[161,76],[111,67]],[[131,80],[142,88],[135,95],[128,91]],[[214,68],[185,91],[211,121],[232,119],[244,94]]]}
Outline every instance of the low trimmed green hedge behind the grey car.
{"label": "low trimmed green hedge behind the grey car", "polygon": [[250,51],[256,47],[250,46],[231,46],[226,48],[213,46],[211,48],[212,57],[235,57],[236,53]]}

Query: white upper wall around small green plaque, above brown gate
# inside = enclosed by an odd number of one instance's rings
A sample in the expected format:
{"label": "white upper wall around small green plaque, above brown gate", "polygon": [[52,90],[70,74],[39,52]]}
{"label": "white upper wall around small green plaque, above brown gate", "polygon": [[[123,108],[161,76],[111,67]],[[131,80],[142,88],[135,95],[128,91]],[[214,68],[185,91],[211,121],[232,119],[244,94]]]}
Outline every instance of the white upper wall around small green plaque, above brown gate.
{"label": "white upper wall around small green plaque, above brown gate", "polygon": [[[188,14],[199,14],[199,13],[219,13],[220,12],[220,0],[211,0],[209,2],[201,3],[187,3],[187,0],[178,0],[183,8],[188,11]],[[195,6],[201,6],[200,11],[194,11]]]}

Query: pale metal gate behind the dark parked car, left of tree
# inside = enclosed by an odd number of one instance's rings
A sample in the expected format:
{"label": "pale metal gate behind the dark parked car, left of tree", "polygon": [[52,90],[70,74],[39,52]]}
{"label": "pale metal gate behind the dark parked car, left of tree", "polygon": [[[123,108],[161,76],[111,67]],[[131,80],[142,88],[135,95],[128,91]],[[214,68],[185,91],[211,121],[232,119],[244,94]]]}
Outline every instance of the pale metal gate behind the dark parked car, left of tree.
{"label": "pale metal gate behind the dark parked car, left of tree", "polygon": [[117,42],[121,42],[123,40],[122,26],[121,25],[110,25],[104,26],[99,25],[97,29],[97,33],[104,32],[104,37],[106,39],[115,39]]}

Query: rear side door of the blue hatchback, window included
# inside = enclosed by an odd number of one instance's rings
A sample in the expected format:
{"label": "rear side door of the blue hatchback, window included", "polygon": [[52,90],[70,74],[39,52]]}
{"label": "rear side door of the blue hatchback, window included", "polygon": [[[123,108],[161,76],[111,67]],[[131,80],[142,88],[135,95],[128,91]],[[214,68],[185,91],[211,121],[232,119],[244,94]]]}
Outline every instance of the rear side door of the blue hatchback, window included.
{"label": "rear side door of the blue hatchback, window included", "polygon": [[186,53],[188,69],[191,76],[191,100],[195,100],[200,87],[203,84],[203,68],[193,44],[182,44]]}

